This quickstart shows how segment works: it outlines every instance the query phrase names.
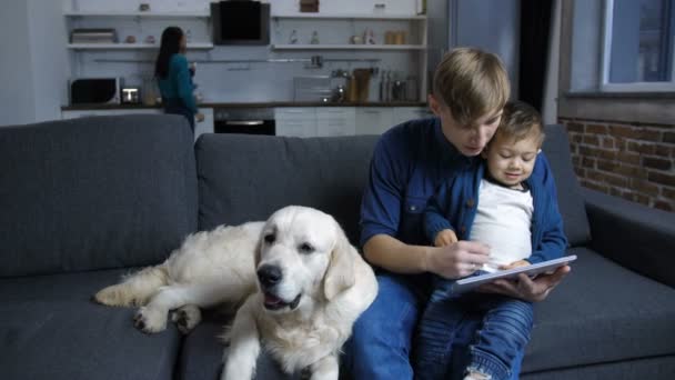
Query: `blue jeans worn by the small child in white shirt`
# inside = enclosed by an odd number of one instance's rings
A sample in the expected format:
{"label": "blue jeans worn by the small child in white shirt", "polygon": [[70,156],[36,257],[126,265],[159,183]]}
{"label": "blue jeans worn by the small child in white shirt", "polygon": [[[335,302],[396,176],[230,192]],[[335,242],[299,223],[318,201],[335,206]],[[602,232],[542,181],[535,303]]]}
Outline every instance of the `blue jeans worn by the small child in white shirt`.
{"label": "blue jeans worn by the small child in white shirt", "polygon": [[516,367],[533,324],[532,303],[497,294],[455,294],[453,282],[437,281],[422,316],[415,377],[445,379],[451,368],[456,372],[456,362],[452,362],[455,340],[466,340],[457,334],[470,323],[475,333],[464,352],[464,369],[490,374],[493,380],[511,379],[514,373],[517,378]]}

